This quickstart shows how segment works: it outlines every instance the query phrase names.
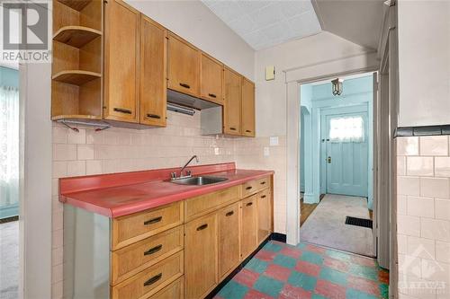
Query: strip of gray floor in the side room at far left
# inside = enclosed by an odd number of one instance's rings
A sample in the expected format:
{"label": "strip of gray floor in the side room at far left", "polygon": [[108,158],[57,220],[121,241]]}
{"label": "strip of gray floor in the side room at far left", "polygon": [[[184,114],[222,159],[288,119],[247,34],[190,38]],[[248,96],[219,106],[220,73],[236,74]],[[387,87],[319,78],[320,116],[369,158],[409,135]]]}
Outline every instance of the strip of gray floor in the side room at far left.
{"label": "strip of gray floor in the side room at far left", "polygon": [[0,224],[0,299],[18,298],[19,222]]}

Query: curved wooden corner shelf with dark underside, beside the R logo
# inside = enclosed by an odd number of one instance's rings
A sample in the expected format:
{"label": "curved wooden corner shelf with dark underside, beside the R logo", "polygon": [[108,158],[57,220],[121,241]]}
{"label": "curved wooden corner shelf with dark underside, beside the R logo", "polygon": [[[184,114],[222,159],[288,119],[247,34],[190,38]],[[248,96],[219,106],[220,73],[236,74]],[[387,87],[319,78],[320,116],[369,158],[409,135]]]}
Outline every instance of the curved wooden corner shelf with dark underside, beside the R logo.
{"label": "curved wooden corner shelf with dark underside, beside the R logo", "polygon": [[59,42],[75,48],[81,48],[101,35],[101,31],[92,28],[83,26],[65,26],[53,35],[53,40],[58,40]]}

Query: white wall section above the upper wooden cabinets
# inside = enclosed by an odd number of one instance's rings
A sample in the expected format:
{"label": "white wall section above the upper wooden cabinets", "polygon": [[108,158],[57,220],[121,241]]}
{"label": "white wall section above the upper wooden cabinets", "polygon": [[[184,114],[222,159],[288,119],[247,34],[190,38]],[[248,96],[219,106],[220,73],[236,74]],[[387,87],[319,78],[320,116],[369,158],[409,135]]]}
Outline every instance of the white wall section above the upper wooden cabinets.
{"label": "white wall section above the upper wooden cabinets", "polygon": [[254,80],[255,51],[200,1],[126,0],[184,40]]}

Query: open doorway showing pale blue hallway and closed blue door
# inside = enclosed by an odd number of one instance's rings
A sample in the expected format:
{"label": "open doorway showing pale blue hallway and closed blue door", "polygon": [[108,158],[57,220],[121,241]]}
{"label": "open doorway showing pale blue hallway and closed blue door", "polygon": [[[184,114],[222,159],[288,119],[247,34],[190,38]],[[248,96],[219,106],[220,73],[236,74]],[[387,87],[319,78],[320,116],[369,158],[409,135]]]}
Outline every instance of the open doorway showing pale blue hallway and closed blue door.
{"label": "open doorway showing pale blue hallway and closed blue door", "polygon": [[340,77],[338,95],[331,79],[302,84],[299,130],[302,242],[369,257],[376,255],[373,77]]}

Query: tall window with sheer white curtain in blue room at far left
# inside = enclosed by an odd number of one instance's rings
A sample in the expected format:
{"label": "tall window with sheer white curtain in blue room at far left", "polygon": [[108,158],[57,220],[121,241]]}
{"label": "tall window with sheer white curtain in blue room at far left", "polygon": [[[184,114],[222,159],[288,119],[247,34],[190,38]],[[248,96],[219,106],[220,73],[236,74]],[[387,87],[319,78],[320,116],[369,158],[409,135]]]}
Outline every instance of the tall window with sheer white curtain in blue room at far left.
{"label": "tall window with sheer white curtain in blue room at far left", "polygon": [[[14,77],[15,76],[15,77]],[[18,215],[18,71],[2,67],[0,82],[0,218]]]}

